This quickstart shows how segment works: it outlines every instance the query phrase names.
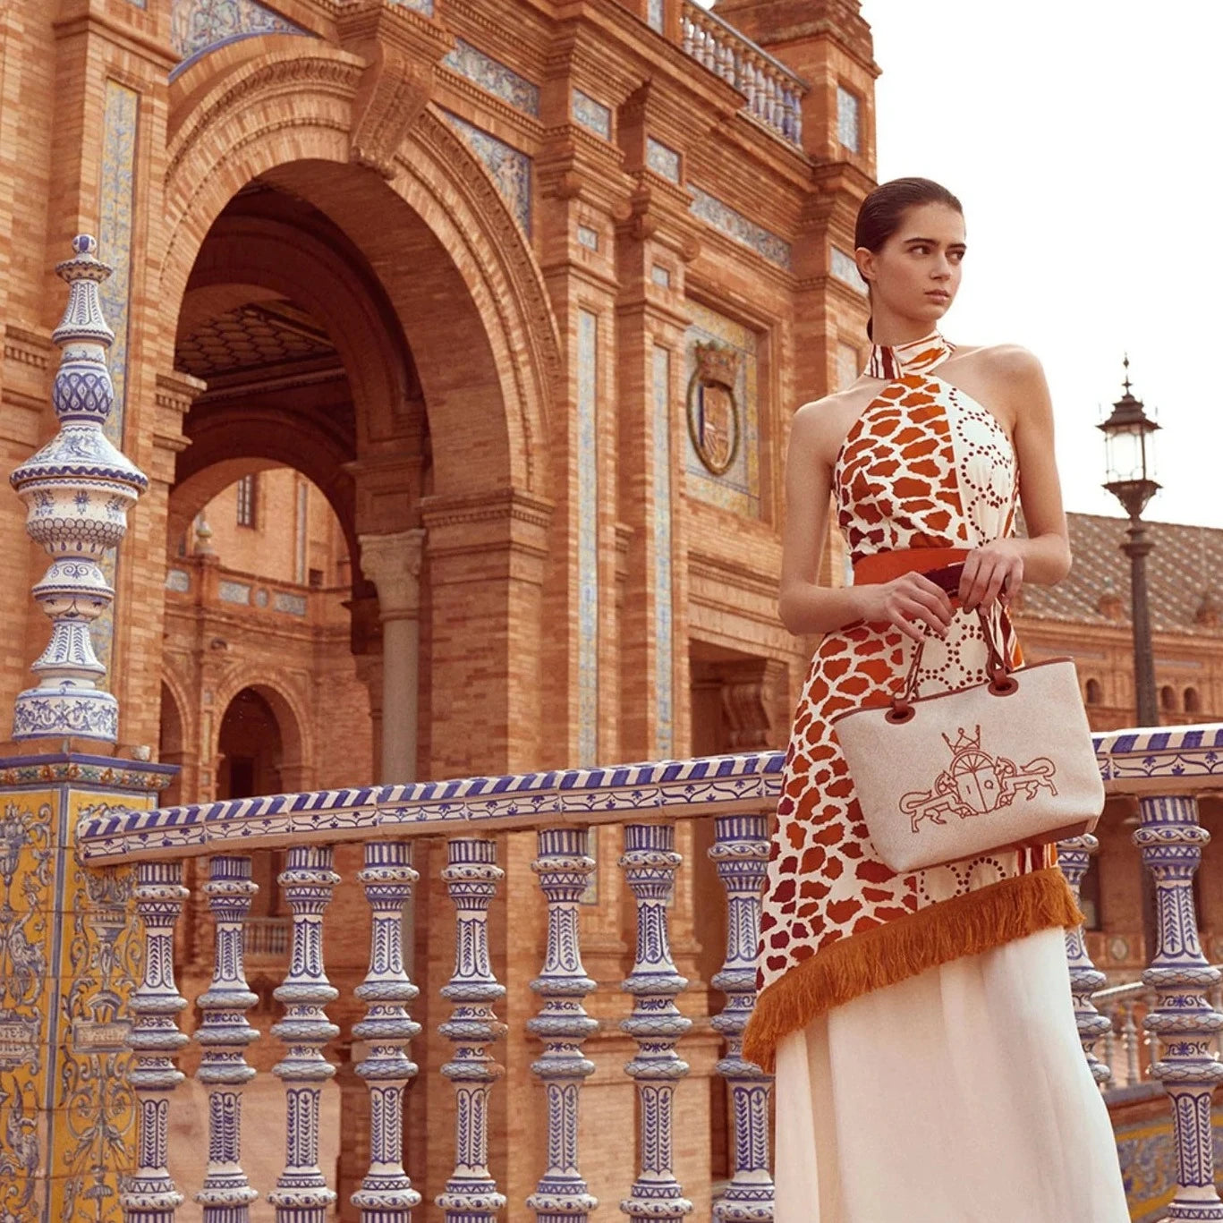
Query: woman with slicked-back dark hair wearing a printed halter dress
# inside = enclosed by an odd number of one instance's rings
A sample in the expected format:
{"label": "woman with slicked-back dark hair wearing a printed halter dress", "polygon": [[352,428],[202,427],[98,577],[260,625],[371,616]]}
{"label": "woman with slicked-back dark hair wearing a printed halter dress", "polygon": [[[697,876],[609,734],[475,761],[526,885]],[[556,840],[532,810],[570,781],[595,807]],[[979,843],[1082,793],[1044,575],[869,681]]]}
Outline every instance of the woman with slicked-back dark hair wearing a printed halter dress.
{"label": "woman with slicked-back dark hair wearing a printed halter dress", "polygon": [[[937,329],[960,284],[959,201],[926,179],[857,218],[873,340],[795,413],[780,615],[823,634],[786,758],[745,1054],[777,1071],[777,1223],[1124,1223],[1112,1129],[1075,1031],[1052,846],[895,874],[829,722],[885,703],[927,638],[925,693],[982,682],[978,608],[1070,567],[1048,388],[1010,345]],[[1027,538],[1011,538],[1016,497]],[[829,500],[854,585],[817,582]],[[923,576],[963,561],[954,597]],[[954,589],[953,585],[953,589]]]}

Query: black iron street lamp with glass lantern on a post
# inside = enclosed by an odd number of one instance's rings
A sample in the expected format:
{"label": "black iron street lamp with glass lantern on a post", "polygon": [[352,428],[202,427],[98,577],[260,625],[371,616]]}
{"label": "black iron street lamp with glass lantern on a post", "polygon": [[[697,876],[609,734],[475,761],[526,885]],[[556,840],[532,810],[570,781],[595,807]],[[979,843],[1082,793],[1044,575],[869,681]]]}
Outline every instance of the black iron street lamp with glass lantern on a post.
{"label": "black iron street lamp with glass lantern on a post", "polygon": [[1113,415],[1098,426],[1104,434],[1107,488],[1130,516],[1121,552],[1130,558],[1130,600],[1134,625],[1134,691],[1137,724],[1157,726],[1155,657],[1151,649],[1151,613],[1147,605],[1146,556],[1151,550],[1142,511],[1159,490],[1151,478],[1155,468],[1155,435],[1159,429],[1130,390],[1130,358],[1125,358],[1125,394],[1113,405]]}

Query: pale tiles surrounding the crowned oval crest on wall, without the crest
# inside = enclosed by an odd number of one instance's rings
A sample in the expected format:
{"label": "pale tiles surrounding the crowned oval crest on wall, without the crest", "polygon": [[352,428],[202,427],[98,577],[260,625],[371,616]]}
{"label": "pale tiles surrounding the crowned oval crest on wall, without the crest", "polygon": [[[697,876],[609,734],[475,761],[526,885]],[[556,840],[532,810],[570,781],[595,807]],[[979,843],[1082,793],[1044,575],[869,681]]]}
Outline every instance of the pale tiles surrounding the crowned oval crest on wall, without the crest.
{"label": "pale tiles surrounding the crowned oval crest on wall, without the crest", "polygon": [[[689,301],[691,324],[684,340],[685,399],[676,405],[687,423],[684,428],[684,472],[689,497],[708,501],[745,517],[759,515],[759,338],[751,328]],[[713,475],[697,453],[693,440],[697,423],[698,385],[697,344],[715,344],[730,350],[735,362],[731,411],[739,430],[739,445],[730,466]]]}

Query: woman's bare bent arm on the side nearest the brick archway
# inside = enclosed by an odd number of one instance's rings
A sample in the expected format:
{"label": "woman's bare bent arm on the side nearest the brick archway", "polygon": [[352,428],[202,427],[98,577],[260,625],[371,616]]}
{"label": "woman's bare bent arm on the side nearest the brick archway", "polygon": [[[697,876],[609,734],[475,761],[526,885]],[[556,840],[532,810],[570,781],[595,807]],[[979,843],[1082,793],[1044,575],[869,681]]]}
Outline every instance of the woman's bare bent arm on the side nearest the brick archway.
{"label": "woman's bare bent arm on the side nearest the brick archway", "polygon": [[821,405],[807,404],[794,416],[785,459],[785,526],[781,531],[781,588],[778,614],[796,636],[832,632],[857,620],[887,621],[921,640],[918,621],[943,634],[951,603],[921,574],[872,586],[818,583],[828,537],[832,464],[822,437]]}

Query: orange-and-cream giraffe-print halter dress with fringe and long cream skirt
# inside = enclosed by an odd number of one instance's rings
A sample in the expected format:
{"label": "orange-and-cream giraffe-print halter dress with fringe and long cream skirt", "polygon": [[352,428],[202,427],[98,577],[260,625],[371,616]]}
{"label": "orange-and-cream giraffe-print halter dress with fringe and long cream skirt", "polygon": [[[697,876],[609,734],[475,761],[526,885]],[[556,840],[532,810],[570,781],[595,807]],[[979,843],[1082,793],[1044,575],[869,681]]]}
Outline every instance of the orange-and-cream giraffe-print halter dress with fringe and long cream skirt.
{"label": "orange-and-cream giraffe-print halter dress with fringe and long cream skirt", "polygon": [[[951,351],[938,333],[872,350],[883,384],[833,471],[859,574],[933,569],[1011,531],[1014,450],[934,373]],[[883,556],[914,550],[932,563]],[[795,715],[744,1048],[777,1073],[775,1221],[1121,1223],[1065,964],[1080,915],[1052,849],[904,874],[873,852],[830,722],[887,703],[912,648],[889,625],[827,634]],[[922,695],[985,665],[980,621],[956,609],[927,640]]]}

